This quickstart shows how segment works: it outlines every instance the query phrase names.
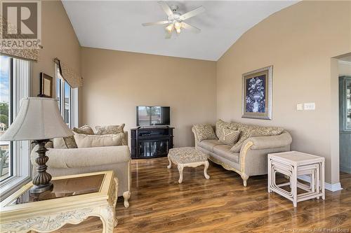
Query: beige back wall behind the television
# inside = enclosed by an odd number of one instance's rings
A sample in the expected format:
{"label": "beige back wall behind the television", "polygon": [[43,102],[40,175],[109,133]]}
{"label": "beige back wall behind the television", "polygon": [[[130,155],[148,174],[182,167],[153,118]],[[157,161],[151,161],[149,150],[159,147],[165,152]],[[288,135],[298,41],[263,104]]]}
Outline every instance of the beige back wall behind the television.
{"label": "beige back wall behind the television", "polygon": [[135,127],[135,106],[171,106],[175,146],[192,146],[191,127],[216,120],[216,62],[81,49],[81,125]]}

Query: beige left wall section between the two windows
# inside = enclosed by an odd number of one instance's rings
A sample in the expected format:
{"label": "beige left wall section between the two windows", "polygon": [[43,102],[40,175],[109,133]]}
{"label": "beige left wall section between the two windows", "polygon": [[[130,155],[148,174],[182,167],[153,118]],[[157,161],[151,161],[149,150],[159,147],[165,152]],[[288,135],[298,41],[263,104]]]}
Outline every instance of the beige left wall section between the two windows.
{"label": "beige left wall section between the two windows", "polygon": [[[53,59],[58,57],[80,73],[80,45],[61,1],[41,1],[41,31],[43,49],[39,61],[33,62],[32,96],[39,94],[39,73],[55,77]],[[55,92],[54,92],[55,94]]]}

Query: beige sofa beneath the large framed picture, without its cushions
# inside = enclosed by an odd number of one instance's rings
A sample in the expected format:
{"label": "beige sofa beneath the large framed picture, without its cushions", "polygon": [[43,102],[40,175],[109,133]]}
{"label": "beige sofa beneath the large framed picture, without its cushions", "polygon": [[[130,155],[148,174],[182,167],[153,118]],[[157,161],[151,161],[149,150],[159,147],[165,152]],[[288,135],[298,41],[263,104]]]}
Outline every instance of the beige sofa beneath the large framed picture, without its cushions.
{"label": "beige sofa beneath the large framed picture, without its cushions", "polygon": [[[240,123],[234,123],[240,124]],[[256,127],[256,126],[253,126]],[[275,136],[249,136],[239,152],[232,152],[232,146],[220,142],[218,139],[199,141],[198,132],[192,127],[195,136],[195,148],[208,155],[208,159],[220,164],[227,170],[235,171],[247,185],[249,176],[267,174],[267,154],[290,150],[291,136],[289,132]],[[217,132],[217,131],[216,131]]]}

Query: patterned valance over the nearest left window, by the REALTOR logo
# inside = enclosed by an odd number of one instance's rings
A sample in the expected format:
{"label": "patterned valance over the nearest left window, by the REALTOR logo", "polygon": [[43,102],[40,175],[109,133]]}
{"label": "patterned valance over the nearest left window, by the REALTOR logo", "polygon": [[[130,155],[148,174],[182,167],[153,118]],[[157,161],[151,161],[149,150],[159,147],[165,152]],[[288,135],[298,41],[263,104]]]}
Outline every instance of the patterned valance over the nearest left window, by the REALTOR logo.
{"label": "patterned valance over the nearest left window, by the REALTOR logo", "polygon": [[[2,38],[3,33],[3,25],[6,24],[7,21],[4,17],[0,16],[0,38]],[[9,29],[15,29],[13,24],[8,24]],[[25,39],[25,36],[22,36]],[[11,57],[18,57],[22,59],[29,59],[37,61],[39,59],[39,49],[35,48],[4,48],[2,45],[0,46],[0,53],[4,55],[8,55]]]}

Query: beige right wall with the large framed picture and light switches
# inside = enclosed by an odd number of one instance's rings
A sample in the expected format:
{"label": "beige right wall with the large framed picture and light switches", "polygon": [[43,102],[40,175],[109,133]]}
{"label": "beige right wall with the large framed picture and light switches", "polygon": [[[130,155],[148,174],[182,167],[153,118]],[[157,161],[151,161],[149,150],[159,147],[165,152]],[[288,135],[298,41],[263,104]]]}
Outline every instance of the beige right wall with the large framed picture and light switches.
{"label": "beige right wall with the large framed picture and light switches", "polygon": [[[326,157],[338,183],[338,78],[331,57],[351,52],[351,2],[302,1],[247,31],[217,62],[217,117],[285,127],[293,150]],[[334,64],[335,63],[335,64]],[[241,118],[241,74],[273,65],[273,120]],[[315,102],[315,111],[296,104]]]}

